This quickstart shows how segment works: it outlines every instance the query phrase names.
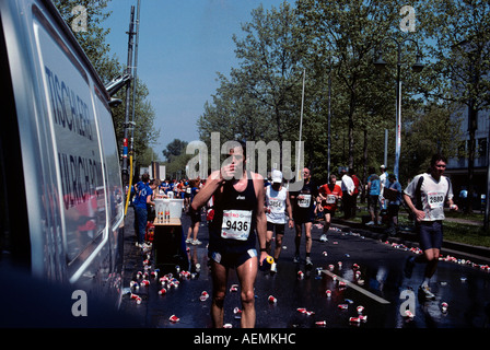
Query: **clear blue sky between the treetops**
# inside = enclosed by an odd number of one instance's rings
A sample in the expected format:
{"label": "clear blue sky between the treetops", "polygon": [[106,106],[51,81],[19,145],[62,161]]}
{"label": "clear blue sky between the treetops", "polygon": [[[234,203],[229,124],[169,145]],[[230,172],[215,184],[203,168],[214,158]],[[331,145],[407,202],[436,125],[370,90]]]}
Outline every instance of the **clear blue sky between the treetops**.
{"label": "clear blue sky between the treetops", "polygon": [[[243,36],[241,24],[261,3],[279,8],[283,0],[141,0],[137,74],[147,84],[160,138],[153,150],[174,139],[198,140],[197,120],[205,103],[212,102],[219,84],[217,72],[229,75],[237,67],[233,34]],[[110,55],[127,63],[131,5],[138,0],[113,0],[106,40]],[[136,18],[136,10],[135,10]]]}

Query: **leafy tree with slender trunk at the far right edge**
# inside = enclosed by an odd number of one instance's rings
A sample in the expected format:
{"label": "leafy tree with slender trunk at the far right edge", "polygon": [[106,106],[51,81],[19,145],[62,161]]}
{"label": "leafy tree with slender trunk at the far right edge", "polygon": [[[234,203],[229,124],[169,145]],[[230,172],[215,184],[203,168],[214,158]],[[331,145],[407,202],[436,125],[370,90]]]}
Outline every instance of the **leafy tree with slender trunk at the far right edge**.
{"label": "leafy tree with slender trunk at the far right edge", "polygon": [[[490,107],[490,3],[486,0],[427,1],[425,35],[433,62],[427,96],[465,106],[468,113],[468,198],[474,191],[478,113]],[[471,201],[467,206],[471,211]]]}

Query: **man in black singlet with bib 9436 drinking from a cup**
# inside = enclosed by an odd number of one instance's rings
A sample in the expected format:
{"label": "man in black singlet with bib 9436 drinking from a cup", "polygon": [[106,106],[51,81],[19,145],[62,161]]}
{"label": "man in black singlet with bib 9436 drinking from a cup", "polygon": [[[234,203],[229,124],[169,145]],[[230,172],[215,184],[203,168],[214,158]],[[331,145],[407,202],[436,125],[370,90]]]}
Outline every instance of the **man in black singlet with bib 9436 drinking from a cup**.
{"label": "man in black singlet with bib 9436 drinking from a cup", "polygon": [[[238,144],[238,142],[237,142]],[[236,268],[241,284],[243,328],[255,327],[254,284],[258,264],[266,253],[267,219],[264,212],[264,178],[245,171],[246,145],[230,149],[230,158],[221,171],[211,173],[205,187],[196,195],[192,209],[199,210],[214,196],[214,218],[209,226],[208,254],[211,261],[213,326],[223,327],[223,306],[228,272]],[[260,245],[257,261],[256,233]]]}

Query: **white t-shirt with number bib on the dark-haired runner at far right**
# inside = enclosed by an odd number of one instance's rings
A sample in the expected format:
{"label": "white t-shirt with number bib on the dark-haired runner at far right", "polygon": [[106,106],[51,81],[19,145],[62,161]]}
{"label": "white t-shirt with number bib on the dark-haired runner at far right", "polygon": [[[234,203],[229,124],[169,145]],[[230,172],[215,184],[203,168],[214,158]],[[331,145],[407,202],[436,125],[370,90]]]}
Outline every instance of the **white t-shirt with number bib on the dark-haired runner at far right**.
{"label": "white t-shirt with number bib on the dark-haired runner at far right", "polygon": [[422,210],[425,212],[425,218],[422,221],[444,220],[444,202],[453,199],[453,186],[450,179],[446,176],[441,176],[438,182],[430,174],[417,175],[404,191],[412,200],[418,200],[416,190],[420,176],[423,176],[420,196]]}

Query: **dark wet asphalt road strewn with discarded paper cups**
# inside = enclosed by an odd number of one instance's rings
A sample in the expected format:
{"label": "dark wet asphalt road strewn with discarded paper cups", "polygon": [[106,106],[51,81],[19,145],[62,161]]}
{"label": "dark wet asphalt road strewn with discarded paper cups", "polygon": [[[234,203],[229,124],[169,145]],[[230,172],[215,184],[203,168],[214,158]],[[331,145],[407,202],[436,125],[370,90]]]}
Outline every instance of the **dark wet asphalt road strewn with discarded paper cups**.
{"label": "dark wet asphalt road strewn with discarded paper cups", "polygon": [[[186,235],[190,220],[183,214],[182,221]],[[489,327],[488,270],[482,270],[479,266],[441,260],[431,280],[431,289],[436,298],[434,301],[423,301],[418,298],[418,288],[423,279],[424,265],[416,265],[411,278],[406,278],[404,275],[407,257],[415,255],[408,247],[373,240],[364,236],[362,230],[350,230],[340,225],[332,225],[328,232],[328,242],[320,242],[320,234],[322,230],[314,225],[312,230],[314,265],[313,268],[306,269],[304,237],[300,248],[302,261],[294,264],[294,231],[285,229],[278,272],[271,275],[259,271],[256,279],[257,328]],[[206,224],[201,225],[198,238],[202,242],[201,245],[187,245],[191,264],[187,267],[180,266],[180,270],[190,270],[195,275],[179,277],[176,271],[161,271],[158,278],[148,278],[150,281],[148,287],[129,289],[131,280],[141,283],[142,279],[137,278],[137,272],[144,271],[143,260],[148,256],[135,247],[133,235],[127,231],[125,292],[140,296],[141,303],[137,304],[128,293],[124,295],[121,311],[129,313],[139,326],[211,327],[211,298],[200,300],[203,291],[212,293],[206,248],[208,244]],[[152,252],[148,254],[151,264]],[[196,272],[197,264],[200,265],[198,272]],[[488,261],[478,264],[485,265]],[[154,266],[149,271],[153,269]],[[173,272],[179,284],[177,288],[167,288],[166,294],[160,295],[159,278],[167,272]],[[237,283],[235,271],[231,270],[229,288]],[[327,290],[331,291],[330,296],[327,296]],[[270,303],[269,295],[276,298],[277,303]],[[446,310],[443,310],[443,303],[447,303]],[[339,305],[343,305],[342,308]],[[366,318],[350,322],[351,317],[359,316],[357,308],[360,305],[364,307],[362,315]],[[242,308],[240,289],[230,291],[224,304],[224,323],[234,328],[240,327],[240,314],[234,313],[235,308]],[[305,308],[307,313],[302,313],[298,308]],[[406,317],[405,310],[409,310],[415,317]],[[172,315],[179,320],[171,322]],[[318,325],[319,322],[324,324]]]}

